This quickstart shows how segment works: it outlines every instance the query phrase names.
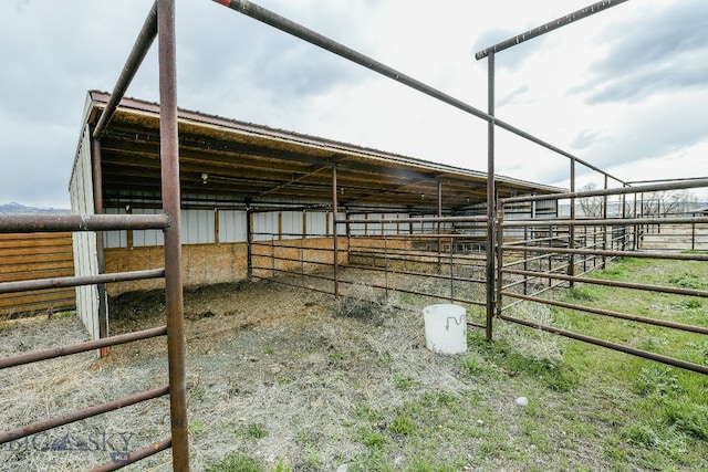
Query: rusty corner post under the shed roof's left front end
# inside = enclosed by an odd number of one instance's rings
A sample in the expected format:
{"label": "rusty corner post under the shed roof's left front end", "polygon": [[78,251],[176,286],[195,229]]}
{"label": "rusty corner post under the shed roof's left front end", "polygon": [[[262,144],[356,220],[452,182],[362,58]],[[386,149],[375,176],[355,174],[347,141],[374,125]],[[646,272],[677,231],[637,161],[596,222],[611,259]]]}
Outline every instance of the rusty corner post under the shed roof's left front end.
{"label": "rusty corner post under the shed roof's left front end", "polygon": [[[91,138],[91,166],[93,175],[93,212],[103,213],[103,170],[101,167],[101,141]],[[98,273],[106,272],[106,259],[103,248],[103,231],[96,231],[96,262]],[[97,284],[98,291],[98,337],[108,337],[108,300],[106,297],[106,284]],[[102,347],[98,350],[100,357],[106,357],[108,348]]]}

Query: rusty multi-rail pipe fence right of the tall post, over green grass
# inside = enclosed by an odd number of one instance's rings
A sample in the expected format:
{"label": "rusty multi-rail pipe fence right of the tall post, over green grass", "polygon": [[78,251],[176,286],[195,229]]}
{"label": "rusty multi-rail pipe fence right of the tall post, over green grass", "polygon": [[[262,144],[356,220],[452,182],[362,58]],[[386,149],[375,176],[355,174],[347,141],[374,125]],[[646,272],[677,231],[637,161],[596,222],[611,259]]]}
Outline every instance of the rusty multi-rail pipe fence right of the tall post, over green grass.
{"label": "rusty multi-rail pipe fence right of the tall post, over green grass", "polygon": [[[695,180],[694,187],[705,187],[708,180]],[[641,192],[656,190],[685,189],[686,183],[673,182],[662,186],[642,186],[622,189],[608,189],[587,192],[575,192],[556,196],[559,199],[587,198],[596,196],[627,196],[636,198]],[[544,199],[548,196],[543,197]],[[666,217],[635,214],[622,211],[610,218],[576,218],[553,219],[545,221],[504,220],[504,206],[530,201],[534,197],[519,197],[499,201],[497,260],[498,291],[496,298],[496,317],[511,323],[518,323],[537,329],[555,333],[573,339],[597,346],[607,347],[622,353],[656,360],[701,374],[708,374],[708,366],[679,359],[662,353],[641,349],[628,344],[602,339],[584,333],[576,333],[559,327],[543,325],[533,319],[525,319],[513,315],[512,310],[522,302],[542,304],[553,308],[569,310],[571,313],[583,313],[603,319],[622,319],[625,323],[650,325],[670,332],[694,333],[708,335],[708,327],[700,324],[678,323],[670,313],[652,313],[652,307],[644,307],[643,315],[623,313],[616,310],[600,308],[592,303],[569,302],[559,291],[553,289],[576,289],[582,286],[603,286],[608,290],[620,289],[628,292],[626,296],[639,296],[641,293],[662,293],[683,297],[707,298],[708,291],[690,286],[671,284],[647,284],[642,282],[624,282],[612,277],[589,276],[590,272],[606,269],[607,263],[618,258],[641,258],[655,261],[695,261],[708,262],[708,254],[680,251],[671,247],[670,240],[663,250],[638,250],[641,247],[642,228],[652,224],[659,232],[663,227],[691,228],[708,223],[708,217]],[[631,207],[632,208],[632,207]],[[527,234],[542,234],[542,238],[528,238],[510,241],[504,232],[523,230]],[[574,230],[574,231],[571,231]],[[574,234],[575,241],[569,241],[569,234]],[[589,238],[589,234],[592,237]],[[559,296],[561,295],[561,296]],[[678,303],[676,306],[683,306]],[[656,308],[654,308],[655,311]],[[680,310],[680,308],[675,308]],[[559,312],[560,313],[560,312]],[[562,315],[559,315],[562,316]],[[562,323],[562,321],[561,321]]]}

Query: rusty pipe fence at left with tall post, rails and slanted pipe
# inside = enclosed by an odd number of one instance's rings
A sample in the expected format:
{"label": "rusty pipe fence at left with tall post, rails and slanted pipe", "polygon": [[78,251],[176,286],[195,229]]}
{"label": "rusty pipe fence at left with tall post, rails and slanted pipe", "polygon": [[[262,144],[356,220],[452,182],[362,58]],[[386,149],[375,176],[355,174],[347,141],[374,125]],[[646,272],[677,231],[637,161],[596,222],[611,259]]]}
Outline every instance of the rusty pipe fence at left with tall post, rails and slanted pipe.
{"label": "rusty pipe fence at left with tall post, rails and slanted pipe", "polygon": [[[160,161],[163,213],[154,216],[115,216],[102,213],[101,192],[101,136],[110,123],[123,94],[127,90],[133,76],[147,54],[155,38],[158,38],[159,56],[159,91],[160,91]],[[166,336],[168,350],[169,384],[144,392],[137,392],[125,398],[115,399],[102,405],[67,411],[54,418],[31,424],[19,426],[0,433],[0,444],[15,441],[38,432],[46,431],[63,424],[69,424],[107,411],[124,408],[142,401],[148,401],[163,396],[169,396],[171,434],[169,438],[149,444],[142,450],[131,452],[127,457],[107,462],[94,469],[110,471],[121,469],[157,452],[171,448],[173,469],[189,470],[189,448],[187,434],[187,400],[185,385],[185,333],[183,308],[183,275],[180,245],[180,188],[179,188],[179,157],[177,137],[177,101],[175,72],[175,1],[156,0],[150,9],[134,49],[121,74],[111,96],[111,101],[101,116],[101,120],[93,130],[92,159],[94,170],[94,212],[97,214],[70,216],[2,216],[0,217],[1,233],[28,232],[92,232],[96,234],[101,266],[102,231],[111,230],[163,230],[165,232],[165,268],[139,272],[100,273],[87,276],[63,276],[29,281],[6,282],[0,284],[2,293],[19,293],[24,291],[44,290],[50,287],[69,287],[98,285],[110,282],[139,280],[149,277],[165,277],[166,325],[142,332],[128,333],[119,336],[81,343],[71,346],[58,346],[51,349],[24,353],[0,359],[0,369],[12,368],[29,363],[41,361],[61,356],[93,349],[105,349],[124,343],[133,343],[152,337]],[[97,174],[97,175],[96,175]],[[101,297],[105,291],[100,290]],[[105,310],[105,306],[104,306]],[[102,333],[103,334],[103,333]]]}

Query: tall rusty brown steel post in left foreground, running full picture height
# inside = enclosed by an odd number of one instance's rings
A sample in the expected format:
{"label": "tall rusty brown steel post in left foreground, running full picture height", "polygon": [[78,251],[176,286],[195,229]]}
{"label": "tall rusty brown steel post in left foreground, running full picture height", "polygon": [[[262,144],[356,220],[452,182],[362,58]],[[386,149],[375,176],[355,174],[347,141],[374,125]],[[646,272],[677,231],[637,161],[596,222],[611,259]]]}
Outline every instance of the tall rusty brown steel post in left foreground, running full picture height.
{"label": "tall rusty brown steel post in left foreground, running full picture height", "polygon": [[181,472],[189,471],[189,438],[185,385],[175,0],[158,0],[157,31],[163,210],[170,219],[170,224],[165,230],[165,312],[167,315],[173,470]]}

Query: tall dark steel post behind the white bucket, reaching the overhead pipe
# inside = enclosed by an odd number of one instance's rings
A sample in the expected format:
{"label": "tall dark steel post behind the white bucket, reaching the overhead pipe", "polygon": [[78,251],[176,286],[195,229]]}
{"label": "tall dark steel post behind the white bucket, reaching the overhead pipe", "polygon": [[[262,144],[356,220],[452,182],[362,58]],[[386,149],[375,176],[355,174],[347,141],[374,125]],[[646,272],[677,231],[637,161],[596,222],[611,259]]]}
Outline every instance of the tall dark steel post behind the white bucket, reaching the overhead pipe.
{"label": "tall dark steel post behind the white bucket, reaching the overhead pipe", "polygon": [[487,127],[487,340],[492,338],[494,315],[494,53],[487,56],[488,65],[488,114]]}

